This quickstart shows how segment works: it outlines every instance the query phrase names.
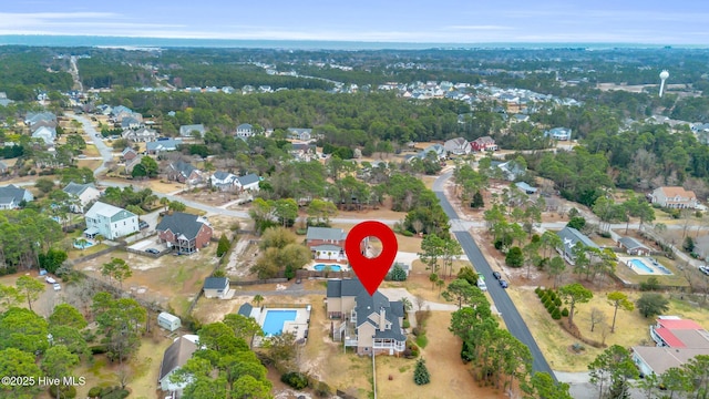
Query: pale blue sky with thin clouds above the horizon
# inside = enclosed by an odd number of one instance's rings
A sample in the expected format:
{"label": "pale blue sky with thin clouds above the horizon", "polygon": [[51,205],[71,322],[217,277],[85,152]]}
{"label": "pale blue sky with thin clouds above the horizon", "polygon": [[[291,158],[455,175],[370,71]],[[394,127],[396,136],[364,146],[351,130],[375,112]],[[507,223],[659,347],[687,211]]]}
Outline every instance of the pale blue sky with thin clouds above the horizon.
{"label": "pale blue sky with thin clouds above the horizon", "polygon": [[709,47],[709,2],[657,0],[20,0],[0,34]]}

